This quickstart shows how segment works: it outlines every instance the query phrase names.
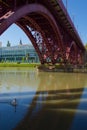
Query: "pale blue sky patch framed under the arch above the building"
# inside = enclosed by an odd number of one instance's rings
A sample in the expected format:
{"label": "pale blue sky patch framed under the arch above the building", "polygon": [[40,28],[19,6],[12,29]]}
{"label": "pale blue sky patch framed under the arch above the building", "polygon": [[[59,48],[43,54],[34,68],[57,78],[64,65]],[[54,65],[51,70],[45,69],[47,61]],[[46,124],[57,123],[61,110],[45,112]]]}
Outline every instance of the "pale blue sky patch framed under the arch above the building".
{"label": "pale blue sky patch framed under the arch above the building", "polygon": [[30,44],[28,37],[26,34],[15,24],[12,24],[1,36],[0,41],[2,42],[2,46],[7,45],[7,41],[11,43],[11,45],[18,45],[20,40],[22,40],[23,44]]}

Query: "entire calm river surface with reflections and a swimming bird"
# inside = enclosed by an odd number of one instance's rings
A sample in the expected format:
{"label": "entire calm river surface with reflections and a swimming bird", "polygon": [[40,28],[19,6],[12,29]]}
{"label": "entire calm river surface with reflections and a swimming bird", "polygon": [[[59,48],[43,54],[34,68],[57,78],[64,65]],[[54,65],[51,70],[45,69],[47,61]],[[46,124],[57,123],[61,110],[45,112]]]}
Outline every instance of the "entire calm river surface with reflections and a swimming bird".
{"label": "entire calm river surface with reflections and a swimming bird", "polygon": [[0,68],[0,130],[87,130],[87,74]]}

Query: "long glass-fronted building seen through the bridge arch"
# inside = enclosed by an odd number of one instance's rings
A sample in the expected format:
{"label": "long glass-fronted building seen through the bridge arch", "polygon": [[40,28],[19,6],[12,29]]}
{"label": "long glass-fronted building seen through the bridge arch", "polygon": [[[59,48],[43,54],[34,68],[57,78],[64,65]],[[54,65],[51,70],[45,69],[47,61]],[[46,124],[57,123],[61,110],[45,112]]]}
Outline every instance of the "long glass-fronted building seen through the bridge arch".
{"label": "long glass-fronted building seen through the bridge arch", "polygon": [[0,61],[39,62],[39,58],[32,45],[17,45],[1,47]]}

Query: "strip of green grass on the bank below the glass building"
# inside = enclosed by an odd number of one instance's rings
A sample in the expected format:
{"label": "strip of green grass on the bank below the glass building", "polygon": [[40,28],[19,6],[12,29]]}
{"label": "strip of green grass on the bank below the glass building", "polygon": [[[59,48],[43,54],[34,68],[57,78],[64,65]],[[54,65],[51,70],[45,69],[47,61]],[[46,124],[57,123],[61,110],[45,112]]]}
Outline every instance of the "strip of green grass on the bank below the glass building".
{"label": "strip of green grass on the bank below the glass building", "polygon": [[0,67],[38,67],[40,63],[0,63]]}

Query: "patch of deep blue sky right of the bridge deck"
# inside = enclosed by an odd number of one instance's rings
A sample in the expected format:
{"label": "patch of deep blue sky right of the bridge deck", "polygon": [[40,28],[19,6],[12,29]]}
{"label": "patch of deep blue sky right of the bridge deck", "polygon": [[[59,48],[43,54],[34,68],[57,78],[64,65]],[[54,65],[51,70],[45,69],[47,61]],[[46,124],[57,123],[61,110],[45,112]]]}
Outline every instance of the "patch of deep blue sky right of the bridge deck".
{"label": "patch of deep blue sky right of the bridge deck", "polygon": [[[66,6],[66,0],[63,2]],[[83,43],[87,43],[87,0],[67,0],[67,10]]]}

